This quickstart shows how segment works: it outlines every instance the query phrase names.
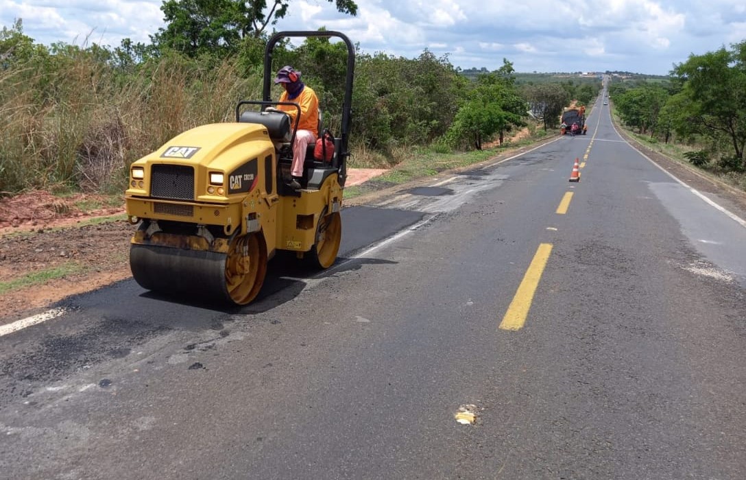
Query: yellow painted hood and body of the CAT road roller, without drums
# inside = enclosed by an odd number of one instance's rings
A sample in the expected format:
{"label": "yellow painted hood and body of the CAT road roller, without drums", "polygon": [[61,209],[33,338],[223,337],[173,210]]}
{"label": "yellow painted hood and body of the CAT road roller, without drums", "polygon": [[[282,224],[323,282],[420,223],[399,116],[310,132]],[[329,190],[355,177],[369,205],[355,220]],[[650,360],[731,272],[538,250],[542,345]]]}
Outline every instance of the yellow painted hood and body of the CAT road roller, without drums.
{"label": "yellow painted hood and body of the CAT road roller, without drums", "polygon": [[[316,217],[324,208],[341,208],[342,187],[330,176],[319,190],[280,196],[277,162],[263,125],[236,122],[192,128],[132,164],[131,172],[142,167],[144,178],[130,178],[125,193],[128,216],[217,225],[226,235],[236,229],[242,234],[262,231],[270,255],[275,249],[307,252],[315,243]],[[169,171],[160,177],[162,166]],[[180,184],[184,175],[191,178]],[[222,175],[222,184],[211,183],[210,175]]]}

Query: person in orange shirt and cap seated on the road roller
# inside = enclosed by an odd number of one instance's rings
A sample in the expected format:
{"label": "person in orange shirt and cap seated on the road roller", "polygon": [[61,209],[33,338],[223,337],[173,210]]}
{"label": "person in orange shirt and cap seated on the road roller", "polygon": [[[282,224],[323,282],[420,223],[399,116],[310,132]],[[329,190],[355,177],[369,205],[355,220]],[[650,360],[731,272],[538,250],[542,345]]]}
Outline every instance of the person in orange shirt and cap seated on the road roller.
{"label": "person in orange shirt and cap seated on the road roller", "polygon": [[[295,132],[295,141],[292,143],[292,166],[290,175],[292,181],[289,186],[300,190],[300,180],[303,178],[303,161],[306,158],[306,149],[310,143],[316,142],[316,134],[319,131],[319,97],[311,87],[301,81],[301,72],[292,66],[283,66],[278,71],[275,84],[282,84],[285,91],[280,95],[280,102],[293,102],[301,107],[301,119],[298,122],[298,131]],[[283,110],[290,116],[291,125],[295,125],[295,117],[298,109],[294,105],[278,105],[278,110]]]}

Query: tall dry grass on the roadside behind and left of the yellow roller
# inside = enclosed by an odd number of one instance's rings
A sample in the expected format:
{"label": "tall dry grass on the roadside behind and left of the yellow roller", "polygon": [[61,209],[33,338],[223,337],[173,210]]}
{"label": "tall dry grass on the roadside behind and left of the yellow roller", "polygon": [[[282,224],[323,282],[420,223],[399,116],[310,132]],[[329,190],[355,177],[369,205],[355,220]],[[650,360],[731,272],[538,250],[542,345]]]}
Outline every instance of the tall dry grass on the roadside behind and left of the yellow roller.
{"label": "tall dry grass on the roadside behind and left of the yellow roller", "polygon": [[0,70],[0,192],[116,193],[128,167],[181,131],[233,119],[260,78],[165,57],[125,74],[85,51]]}

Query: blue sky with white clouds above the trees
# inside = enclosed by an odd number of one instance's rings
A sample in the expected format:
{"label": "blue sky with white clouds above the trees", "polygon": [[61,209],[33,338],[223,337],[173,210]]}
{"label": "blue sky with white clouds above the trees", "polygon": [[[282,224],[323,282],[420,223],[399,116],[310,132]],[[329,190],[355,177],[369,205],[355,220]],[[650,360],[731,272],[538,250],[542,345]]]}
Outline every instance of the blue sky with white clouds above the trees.
{"label": "blue sky with white clouds above the trees", "polygon": [[[622,70],[666,75],[689,54],[746,40],[745,0],[357,0],[357,16],[326,0],[291,0],[280,30],[326,27],[363,52],[448,55],[463,69]],[[38,43],[149,43],[161,0],[0,0],[0,25],[20,18]]]}

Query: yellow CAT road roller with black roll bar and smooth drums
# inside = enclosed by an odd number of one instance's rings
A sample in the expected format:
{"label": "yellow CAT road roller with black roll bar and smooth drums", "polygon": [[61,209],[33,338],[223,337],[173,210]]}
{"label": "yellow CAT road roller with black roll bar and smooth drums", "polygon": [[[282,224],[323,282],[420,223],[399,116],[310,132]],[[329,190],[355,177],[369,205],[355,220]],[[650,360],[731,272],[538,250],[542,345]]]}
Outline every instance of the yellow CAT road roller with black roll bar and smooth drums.
{"label": "yellow CAT road roller with black roll bar and smooth drums", "polygon": [[[271,97],[272,49],[283,37],[339,37],[348,51],[339,137],[329,161],[310,145],[301,189],[289,187],[298,122]],[[125,193],[130,267],[141,287],[246,305],[279,251],[314,267],[336,261],[342,238],[354,48],[335,31],[286,31],[264,54],[263,99],[241,101],[236,121],[192,128],[132,163]],[[295,105],[300,111],[297,104]],[[319,122],[319,126],[320,126]],[[319,132],[320,133],[320,132]],[[320,136],[320,135],[319,135]]]}

